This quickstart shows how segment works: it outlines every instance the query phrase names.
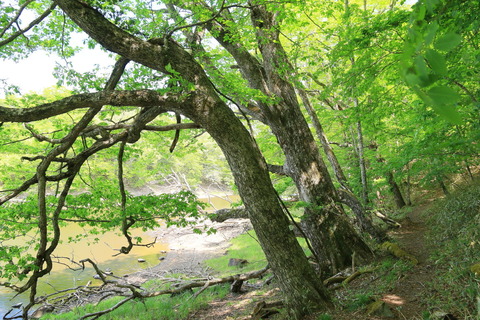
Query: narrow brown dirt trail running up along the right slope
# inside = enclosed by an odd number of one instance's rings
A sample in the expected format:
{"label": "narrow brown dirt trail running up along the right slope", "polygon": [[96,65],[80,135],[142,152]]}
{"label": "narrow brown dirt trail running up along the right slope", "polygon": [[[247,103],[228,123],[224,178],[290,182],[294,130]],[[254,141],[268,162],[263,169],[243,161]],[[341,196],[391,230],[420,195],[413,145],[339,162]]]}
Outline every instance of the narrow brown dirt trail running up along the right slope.
{"label": "narrow brown dirt trail running up along the right slope", "polygon": [[425,216],[430,203],[417,206],[402,223],[402,227],[392,233],[400,247],[413,255],[418,264],[397,282],[393,290],[385,293],[382,300],[399,310],[399,319],[422,319],[427,310],[425,284],[432,280],[434,270],[428,262],[430,254],[425,240]]}

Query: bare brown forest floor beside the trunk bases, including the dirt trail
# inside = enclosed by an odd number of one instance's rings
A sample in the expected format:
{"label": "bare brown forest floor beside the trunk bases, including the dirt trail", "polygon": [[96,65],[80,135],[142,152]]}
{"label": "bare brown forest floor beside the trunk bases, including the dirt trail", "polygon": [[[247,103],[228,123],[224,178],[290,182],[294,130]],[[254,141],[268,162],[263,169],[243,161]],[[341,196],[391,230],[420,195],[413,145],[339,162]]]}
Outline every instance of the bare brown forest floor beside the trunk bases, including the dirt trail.
{"label": "bare brown forest floor beside the trunk bases, including the dirt trail", "polygon": [[[392,239],[396,241],[402,249],[413,255],[419,262],[417,265],[409,268],[409,270],[399,274],[399,278],[394,279],[394,283],[387,291],[383,292],[383,294],[372,297],[373,299],[384,301],[388,309],[392,311],[392,314],[388,316],[367,315],[364,307],[356,310],[351,310],[346,307],[343,310],[329,310],[324,317],[319,314],[313,316],[311,319],[423,319],[422,313],[428,309],[425,302],[425,297],[428,296],[426,283],[432,280],[435,268],[435,266],[428,261],[430,248],[425,240],[426,224],[424,213],[429,205],[429,201],[424,201],[422,204],[414,207],[401,222],[401,228],[389,233]],[[380,257],[380,259],[382,258],[384,257]],[[336,297],[338,300],[341,300],[339,297],[346,295],[346,293],[342,292],[344,290],[360,289],[361,291],[362,287],[375,286],[375,281],[377,281],[378,278],[379,275],[375,273],[359,277],[349,285],[349,288],[336,290]],[[271,302],[279,299],[280,293],[275,287],[245,291],[241,294],[230,293],[222,300],[213,301],[206,308],[191,314],[189,319],[252,319],[250,314],[258,302]],[[326,315],[329,315],[329,317]],[[270,319],[288,319],[288,317],[279,314],[270,317]]]}

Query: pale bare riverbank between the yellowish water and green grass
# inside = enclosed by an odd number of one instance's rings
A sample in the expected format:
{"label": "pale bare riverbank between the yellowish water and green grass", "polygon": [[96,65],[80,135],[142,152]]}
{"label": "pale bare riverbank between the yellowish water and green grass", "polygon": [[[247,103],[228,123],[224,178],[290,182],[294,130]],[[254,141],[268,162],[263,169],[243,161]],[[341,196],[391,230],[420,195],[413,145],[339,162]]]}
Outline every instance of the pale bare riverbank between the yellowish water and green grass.
{"label": "pale bare riverbank between the yellowish water and green grass", "polygon": [[[114,280],[123,285],[140,286],[146,281],[168,278],[172,274],[184,274],[192,277],[208,276],[211,274],[211,270],[203,262],[224,255],[231,245],[231,239],[252,229],[248,219],[229,219],[221,223],[207,220],[202,223],[203,226],[213,228],[216,232],[198,234],[194,232],[194,227],[162,227],[148,231],[148,236],[156,237],[157,242],[162,244],[162,247],[158,248],[159,263],[131,274],[117,275],[112,279],[107,277],[108,280]],[[166,252],[163,250],[164,244],[168,244]],[[106,297],[111,297],[112,294],[108,292],[113,288],[115,288],[115,284],[107,284],[102,287],[101,291],[77,291],[75,299],[65,299],[64,301],[68,302],[55,305],[53,312],[65,313],[86,304],[95,304]],[[122,291],[119,288],[115,290],[117,295]],[[127,289],[124,290],[125,293],[128,292]],[[40,309],[44,308],[40,307]]]}

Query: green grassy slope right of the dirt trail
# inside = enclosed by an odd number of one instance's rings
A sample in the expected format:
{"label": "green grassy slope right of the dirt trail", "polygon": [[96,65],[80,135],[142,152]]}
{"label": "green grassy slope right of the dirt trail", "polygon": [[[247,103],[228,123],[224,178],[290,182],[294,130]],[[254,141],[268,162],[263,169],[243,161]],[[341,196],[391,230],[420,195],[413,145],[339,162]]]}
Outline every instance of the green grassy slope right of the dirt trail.
{"label": "green grassy slope right of the dirt trail", "polygon": [[430,310],[446,310],[464,319],[480,319],[480,279],[470,267],[480,262],[480,184],[463,187],[428,212],[428,240],[438,271],[429,284]]}

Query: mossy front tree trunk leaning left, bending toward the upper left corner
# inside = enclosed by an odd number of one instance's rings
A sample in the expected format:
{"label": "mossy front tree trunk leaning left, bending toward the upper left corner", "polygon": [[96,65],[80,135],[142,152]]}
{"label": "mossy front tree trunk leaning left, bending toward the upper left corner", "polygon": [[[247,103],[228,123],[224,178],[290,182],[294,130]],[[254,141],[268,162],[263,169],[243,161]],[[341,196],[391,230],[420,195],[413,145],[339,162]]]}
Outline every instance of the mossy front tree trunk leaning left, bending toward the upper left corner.
{"label": "mossy front tree trunk leaning left, bending toward the upper left corner", "polygon": [[148,43],[111,24],[83,2],[58,0],[57,3],[106,49],[166,74],[170,73],[169,65],[195,86],[184,103],[166,103],[165,109],[181,113],[204,127],[222,149],[292,317],[300,319],[319,307],[326,307],[329,304],[326,289],[289,229],[255,141],[218,97],[202,67],[172,39]]}

